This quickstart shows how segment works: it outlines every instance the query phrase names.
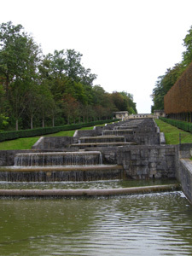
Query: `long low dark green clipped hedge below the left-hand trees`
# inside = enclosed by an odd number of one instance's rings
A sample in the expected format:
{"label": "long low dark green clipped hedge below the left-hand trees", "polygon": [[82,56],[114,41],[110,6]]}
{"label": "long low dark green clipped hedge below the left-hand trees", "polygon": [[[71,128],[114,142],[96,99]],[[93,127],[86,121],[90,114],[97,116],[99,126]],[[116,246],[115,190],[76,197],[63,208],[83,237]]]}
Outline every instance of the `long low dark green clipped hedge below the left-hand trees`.
{"label": "long low dark green clipped hedge below the left-hand trees", "polygon": [[3,131],[0,132],[0,142],[7,141],[7,140],[13,140],[20,137],[35,137],[35,136],[42,136],[46,134],[51,134],[59,131],[71,131],[71,130],[77,130],[82,127],[89,127],[93,125],[102,125],[110,122],[115,122],[119,119],[108,119],[108,120],[101,120],[101,121],[95,121],[95,122],[89,122],[89,123],[83,123],[83,124],[74,124],[74,125],[61,125],[61,126],[55,126],[55,127],[44,127],[44,128],[37,128],[32,130],[20,130],[20,131]]}

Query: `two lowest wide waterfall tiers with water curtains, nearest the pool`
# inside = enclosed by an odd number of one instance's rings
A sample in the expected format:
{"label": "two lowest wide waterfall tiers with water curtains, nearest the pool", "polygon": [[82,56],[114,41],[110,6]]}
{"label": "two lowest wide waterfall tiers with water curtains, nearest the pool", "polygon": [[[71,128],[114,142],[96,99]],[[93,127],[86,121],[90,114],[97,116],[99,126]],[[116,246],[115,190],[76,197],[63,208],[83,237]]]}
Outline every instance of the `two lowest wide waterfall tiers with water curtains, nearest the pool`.
{"label": "two lowest wide waterfall tiers with water curtains, nearest the pool", "polygon": [[6,182],[79,182],[123,176],[122,166],[102,165],[100,151],[16,154],[15,166],[0,167],[0,181]]}

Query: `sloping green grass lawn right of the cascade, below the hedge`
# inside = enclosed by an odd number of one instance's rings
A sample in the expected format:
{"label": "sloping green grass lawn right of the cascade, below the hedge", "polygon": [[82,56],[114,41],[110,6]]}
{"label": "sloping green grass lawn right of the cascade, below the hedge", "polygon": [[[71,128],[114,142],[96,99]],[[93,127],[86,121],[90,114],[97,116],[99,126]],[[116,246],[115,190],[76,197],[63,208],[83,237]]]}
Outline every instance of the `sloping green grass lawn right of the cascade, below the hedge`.
{"label": "sloping green grass lawn right of the cascade, below the hedge", "polygon": [[164,132],[166,144],[179,144],[179,133],[181,133],[181,143],[192,143],[192,134],[187,131],[177,129],[177,127],[167,124],[160,119],[154,119],[160,127],[160,131]]}

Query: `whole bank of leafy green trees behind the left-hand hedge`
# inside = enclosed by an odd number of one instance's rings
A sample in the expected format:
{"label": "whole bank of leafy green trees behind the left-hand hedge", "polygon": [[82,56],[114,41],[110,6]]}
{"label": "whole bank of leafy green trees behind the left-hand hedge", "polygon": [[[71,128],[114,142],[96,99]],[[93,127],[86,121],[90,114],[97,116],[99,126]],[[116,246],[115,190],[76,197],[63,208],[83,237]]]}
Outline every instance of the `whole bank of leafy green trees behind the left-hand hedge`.
{"label": "whole bank of leafy green trees behind the left-hand hedge", "polygon": [[93,85],[96,74],[74,49],[42,49],[21,25],[0,25],[0,130],[109,119],[137,113],[133,96]]}

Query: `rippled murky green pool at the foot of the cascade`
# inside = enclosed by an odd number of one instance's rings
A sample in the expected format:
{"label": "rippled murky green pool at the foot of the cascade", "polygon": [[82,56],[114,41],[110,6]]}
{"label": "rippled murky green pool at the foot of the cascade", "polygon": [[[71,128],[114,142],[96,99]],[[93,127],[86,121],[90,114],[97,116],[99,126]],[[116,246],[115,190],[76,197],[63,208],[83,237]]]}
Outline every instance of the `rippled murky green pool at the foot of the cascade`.
{"label": "rippled murky green pool at the foot of the cascade", "polygon": [[0,255],[192,255],[182,192],[0,200]]}

